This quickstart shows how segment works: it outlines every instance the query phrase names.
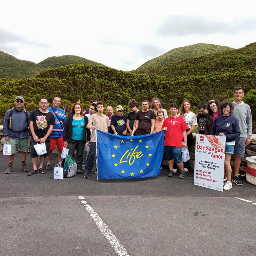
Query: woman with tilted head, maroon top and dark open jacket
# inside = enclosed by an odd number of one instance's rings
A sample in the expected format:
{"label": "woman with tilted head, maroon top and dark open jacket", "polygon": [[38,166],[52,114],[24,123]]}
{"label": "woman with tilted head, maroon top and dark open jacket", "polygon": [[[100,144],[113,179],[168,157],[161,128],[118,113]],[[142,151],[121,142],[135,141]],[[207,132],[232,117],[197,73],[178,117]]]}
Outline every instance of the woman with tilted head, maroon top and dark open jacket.
{"label": "woman with tilted head, maroon top and dark open jacket", "polygon": [[210,135],[212,130],[213,121],[217,116],[219,116],[219,108],[220,108],[220,101],[218,100],[210,100],[207,103],[207,110],[208,110],[208,117],[206,118],[206,123],[204,126],[204,134]]}

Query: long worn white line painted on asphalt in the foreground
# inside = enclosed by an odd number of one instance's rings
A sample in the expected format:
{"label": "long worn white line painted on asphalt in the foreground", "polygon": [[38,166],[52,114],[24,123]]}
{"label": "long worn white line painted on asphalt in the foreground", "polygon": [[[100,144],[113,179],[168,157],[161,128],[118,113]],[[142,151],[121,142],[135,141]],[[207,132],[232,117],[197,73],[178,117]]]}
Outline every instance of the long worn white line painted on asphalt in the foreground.
{"label": "long worn white line painted on asphalt in the foreground", "polygon": [[[82,196],[78,197],[79,199],[85,199]],[[114,248],[115,252],[119,256],[129,256],[128,252],[124,248],[123,245],[120,244],[119,240],[116,238],[114,233],[108,228],[107,224],[103,222],[103,220],[100,218],[97,212],[95,212],[94,208],[90,206],[86,201],[82,200],[82,204],[84,204],[85,209],[90,214],[91,218],[94,220],[96,225],[98,226],[98,229],[100,229],[101,233],[106,237],[108,243],[111,245],[111,247]]]}

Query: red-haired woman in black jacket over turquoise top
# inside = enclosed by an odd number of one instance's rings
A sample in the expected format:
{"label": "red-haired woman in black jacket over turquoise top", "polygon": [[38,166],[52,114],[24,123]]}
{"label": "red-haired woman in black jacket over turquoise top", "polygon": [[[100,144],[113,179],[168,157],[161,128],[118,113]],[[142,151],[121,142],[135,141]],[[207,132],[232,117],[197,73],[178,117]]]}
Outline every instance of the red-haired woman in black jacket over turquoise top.
{"label": "red-haired woman in black jacket over turquoise top", "polygon": [[77,174],[82,173],[83,150],[85,144],[91,140],[90,129],[87,129],[88,118],[84,116],[79,102],[71,107],[70,115],[66,119],[63,131],[64,145],[68,145],[69,155],[73,156],[76,149]]}

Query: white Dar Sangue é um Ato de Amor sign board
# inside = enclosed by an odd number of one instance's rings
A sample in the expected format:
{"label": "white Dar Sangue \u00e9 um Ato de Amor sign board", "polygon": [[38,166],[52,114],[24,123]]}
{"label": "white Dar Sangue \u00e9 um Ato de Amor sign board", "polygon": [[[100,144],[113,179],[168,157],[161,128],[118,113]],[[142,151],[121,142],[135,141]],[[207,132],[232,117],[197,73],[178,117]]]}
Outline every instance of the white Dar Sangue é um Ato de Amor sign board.
{"label": "white Dar Sangue \u00e9 um Ato de Amor sign board", "polygon": [[196,135],[194,185],[223,191],[226,137]]}

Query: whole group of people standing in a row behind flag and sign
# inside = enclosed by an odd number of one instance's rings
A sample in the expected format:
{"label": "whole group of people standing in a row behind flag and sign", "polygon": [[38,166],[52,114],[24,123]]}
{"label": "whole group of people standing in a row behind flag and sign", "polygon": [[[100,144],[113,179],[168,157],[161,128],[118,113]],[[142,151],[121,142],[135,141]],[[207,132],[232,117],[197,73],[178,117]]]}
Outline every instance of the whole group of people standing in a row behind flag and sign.
{"label": "whole group of people standing in a row behind flag and sign", "polygon": [[[232,187],[231,183],[231,155],[235,156],[235,174],[233,182],[242,185],[239,179],[239,167],[241,157],[244,156],[245,146],[251,141],[252,119],[249,105],[242,101],[244,90],[241,87],[234,88],[234,102],[220,103],[218,100],[210,100],[198,104],[198,116],[191,112],[192,106],[189,100],[184,100],[178,109],[176,103],[171,103],[167,111],[162,108],[158,98],[153,98],[151,109],[149,101],[142,101],[142,110],[138,109],[136,100],[130,100],[128,115],[123,113],[123,107],[107,106],[107,114],[103,114],[104,103],[93,101],[89,108],[83,110],[78,101],[73,104],[68,118],[62,108],[59,107],[61,98],[56,96],[53,104],[49,107],[46,97],[42,97],[39,108],[31,114],[23,107],[24,98],[15,98],[15,107],[6,111],[3,121],[3,133],[5,141],[11,144],[12,154],[9,155],[9,164],[5,171],[11,173],[14,156],[18,148],[21,152],[22,171],[28,175],[40,172],[45,174],[51,169],[52,151],[57,146],[59,164],[62,163],[62,150],[68,147],[69,155],[73,156],[76,150],[77,174],[82,174],[85,169],[84,178],[90,178],[96,158],[96,133],[101,130],[116,135],[145,135],[165,130],[164,150],[169,163],[168,177],[173,177],[180,170],[179,178],[184,178],[188,172],[188,161],[182,161],[182,147],[190,151],[193,143],[193,131],[198,125],[197,133],[205,134],[214,147],[221,145],[214,142],[214,136],[225,136],[225,190]],[[28,150],[28,139],[31,144],[31,158],[33,170],[29,171],[26,165],[26,153]],[[46,153],[39,155],[39,166],[37,168],[38,155],[34,145],[45,143]],[[46,170],[43,164],[47,157]],[[177,167],[176,167],[177,166]],[[176,167],[176,168],[174,168]],[[226,174],[226,176],[225,176]]]}

